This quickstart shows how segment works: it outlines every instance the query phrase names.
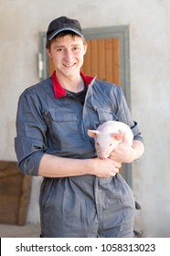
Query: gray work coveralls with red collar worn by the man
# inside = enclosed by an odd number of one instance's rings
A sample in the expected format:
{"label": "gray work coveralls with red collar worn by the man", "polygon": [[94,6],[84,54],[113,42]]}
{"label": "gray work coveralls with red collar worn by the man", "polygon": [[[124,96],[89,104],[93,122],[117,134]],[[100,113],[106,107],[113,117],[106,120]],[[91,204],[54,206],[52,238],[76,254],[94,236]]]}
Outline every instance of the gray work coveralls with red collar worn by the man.
{"label": "gray work coveralls with red collar worn by the man", "polygon": [[[94,80],[81,104],[67,97],[54,74],[52,78],[27,88],[18,102],[15,146],[23,174],[38,176],[44,154],[96,157],[87,130],[108,120],[127,123],[134,139],[143,142],[121,88]],[[108,178],[44,177],[39,207],[42,237],[133,237],[133,191],[119,174]]]}

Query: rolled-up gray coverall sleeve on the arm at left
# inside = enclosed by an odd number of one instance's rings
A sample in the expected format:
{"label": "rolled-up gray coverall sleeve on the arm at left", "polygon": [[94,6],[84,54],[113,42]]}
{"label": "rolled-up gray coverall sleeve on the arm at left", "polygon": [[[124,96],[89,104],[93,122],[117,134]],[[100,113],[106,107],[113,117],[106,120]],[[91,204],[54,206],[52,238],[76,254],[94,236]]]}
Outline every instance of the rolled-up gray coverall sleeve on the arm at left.
{"label": "rolled-up gray coverall sleeve on the arm at left", "polygon": [[23,93],[16,113],[15,150],[19,170],[24,175],[38,176],[39,162],[47,148],[46,131],[37,96]]}

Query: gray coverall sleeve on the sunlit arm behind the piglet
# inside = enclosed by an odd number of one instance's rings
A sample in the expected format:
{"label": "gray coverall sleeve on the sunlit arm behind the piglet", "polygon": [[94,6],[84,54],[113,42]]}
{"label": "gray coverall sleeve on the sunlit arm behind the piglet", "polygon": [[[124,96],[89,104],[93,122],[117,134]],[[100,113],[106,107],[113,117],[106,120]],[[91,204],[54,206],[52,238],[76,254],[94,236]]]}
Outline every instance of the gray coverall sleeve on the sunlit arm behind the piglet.
{"label": "gray coverall sleeve on the sunlit arm behind the piglet", "polygon": [[133,140],[139,140],[143,143],[143,137],[141,136],[141,132],[138,128],[138,123],[133,121],[131,112],[125,100],[124,94],[122,92],[121,87],[116,88],[116,95],[114,95],[113,101],[113,108],[116,109],[116,116],[118,117],[119,121],[128,124],[131,127],[133,132]]}

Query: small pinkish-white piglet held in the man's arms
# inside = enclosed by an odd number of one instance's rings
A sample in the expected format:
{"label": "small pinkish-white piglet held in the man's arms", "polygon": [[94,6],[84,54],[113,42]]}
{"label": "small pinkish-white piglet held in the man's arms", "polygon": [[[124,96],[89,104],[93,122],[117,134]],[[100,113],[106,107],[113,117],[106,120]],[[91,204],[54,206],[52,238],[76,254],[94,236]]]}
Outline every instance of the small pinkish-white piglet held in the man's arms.
{"label": "small pinkish-white piglet held in the man's arms", "polygon": [[123,135],[130,145],[133,144],[133,132],[131,128],[122,122],[107,121],[98,126],[97,130],[88,130],[88,135],[94,138],[97,155],[106,159],[112,150],[122,143]]}

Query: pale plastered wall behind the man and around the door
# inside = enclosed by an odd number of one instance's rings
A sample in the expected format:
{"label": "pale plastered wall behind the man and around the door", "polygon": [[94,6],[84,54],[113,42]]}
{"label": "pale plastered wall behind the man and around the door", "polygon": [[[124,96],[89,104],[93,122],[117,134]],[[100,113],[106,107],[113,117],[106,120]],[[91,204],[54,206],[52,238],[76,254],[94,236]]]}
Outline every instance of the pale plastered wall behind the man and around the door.
{"label": "pale plastered wall behind the man and around the door", "polygon": [[[0,6],[0,160],[16,160],[16,105],[38,81],[38,32],[62,15],[84,28],[129,25],[132,113],[146,147],[133,163],[133,190],[143,206],[136,226],[148,237],[170,237],[169,0],[0,0]],[[40,181],[34,178],[28,222],[39,221]]]}

